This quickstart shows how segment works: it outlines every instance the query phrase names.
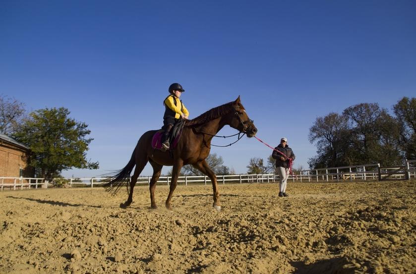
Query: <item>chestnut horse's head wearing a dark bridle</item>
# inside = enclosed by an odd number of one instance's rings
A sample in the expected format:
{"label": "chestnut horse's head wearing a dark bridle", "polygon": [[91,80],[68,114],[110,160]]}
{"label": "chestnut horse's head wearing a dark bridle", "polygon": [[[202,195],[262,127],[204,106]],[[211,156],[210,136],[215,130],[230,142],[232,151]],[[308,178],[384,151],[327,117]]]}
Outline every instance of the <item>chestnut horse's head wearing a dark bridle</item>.
{"label": "chestnut horse's head wearing a dark bridle", "polygon": [[257,128],[254,126],[253,120],[247,115],[244,107],[241,104],[240,97],[232,103],[234,113],[231,114],[231,121],[229,125],[240,132],[247,134],[247,137],[253,137],[257,133]]}

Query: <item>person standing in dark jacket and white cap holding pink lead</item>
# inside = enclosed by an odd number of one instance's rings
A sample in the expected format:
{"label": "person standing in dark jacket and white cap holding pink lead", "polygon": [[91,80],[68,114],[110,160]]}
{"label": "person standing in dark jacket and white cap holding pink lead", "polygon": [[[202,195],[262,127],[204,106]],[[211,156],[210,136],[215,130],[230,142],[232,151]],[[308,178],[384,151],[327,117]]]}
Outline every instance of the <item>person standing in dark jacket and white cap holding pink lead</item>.
{"label": "person standing in dark jacket and white cap holding pink lead", "polygon": [[295,160],[295,154],[288,146],[288,139],[283,137],[280,144],[275,147],[272,154],[273,159],[276,159],[276,170],[280,177],[279,197],[288,197],[286,193],[286,182],[289,177],[289,168],[291,162]]}

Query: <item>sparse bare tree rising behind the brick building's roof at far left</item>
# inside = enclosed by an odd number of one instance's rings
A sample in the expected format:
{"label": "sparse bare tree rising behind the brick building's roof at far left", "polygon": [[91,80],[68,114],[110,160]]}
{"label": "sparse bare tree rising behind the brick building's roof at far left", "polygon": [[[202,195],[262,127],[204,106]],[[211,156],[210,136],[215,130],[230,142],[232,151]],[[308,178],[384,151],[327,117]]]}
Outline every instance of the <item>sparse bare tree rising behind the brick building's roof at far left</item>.
{"label": "sparse bare tree rising behind the brick building's roof at far left", "polygon": [[13,135],[25,117],[24,106],[14,98],[0,95],[0,133]]}

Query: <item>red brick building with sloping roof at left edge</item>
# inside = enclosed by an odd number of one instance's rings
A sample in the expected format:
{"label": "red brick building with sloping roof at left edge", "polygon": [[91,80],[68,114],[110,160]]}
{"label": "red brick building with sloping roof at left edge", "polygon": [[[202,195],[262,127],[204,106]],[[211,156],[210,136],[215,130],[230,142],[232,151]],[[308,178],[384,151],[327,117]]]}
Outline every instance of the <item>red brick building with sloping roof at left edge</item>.
{"label": "red brick building with sloping roof at left edge", "polygon": [[0,134],[0,177],[33,177],[34,169],[27,164],[30,149]]}

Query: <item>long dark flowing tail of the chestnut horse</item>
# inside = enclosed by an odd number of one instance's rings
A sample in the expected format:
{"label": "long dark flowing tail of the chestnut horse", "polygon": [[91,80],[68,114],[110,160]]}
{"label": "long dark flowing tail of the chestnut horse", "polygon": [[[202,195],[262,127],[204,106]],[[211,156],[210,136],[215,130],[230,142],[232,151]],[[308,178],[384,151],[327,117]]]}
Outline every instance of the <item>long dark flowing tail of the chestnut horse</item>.
{"label": "long dark flowing tail of the chestnut horse", "polygon": [[129,192],[130,173],[133,170],[134,165],[136,165],[136,161],[134,157],[135,152],[136,152],[136,149],[134,149],[133,154],[131,155],[130,161],[128,161],[127,165],[124,166],[123,169],[116,170],[115,172],[107,174],[110,176],[102,184],[102,186],[106,189],[106,191],[114,195],[119,191],[119,189],[123,186],[123,184],[126,183],[127,193]]}

